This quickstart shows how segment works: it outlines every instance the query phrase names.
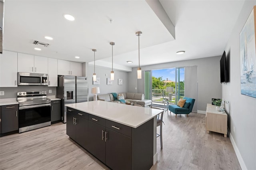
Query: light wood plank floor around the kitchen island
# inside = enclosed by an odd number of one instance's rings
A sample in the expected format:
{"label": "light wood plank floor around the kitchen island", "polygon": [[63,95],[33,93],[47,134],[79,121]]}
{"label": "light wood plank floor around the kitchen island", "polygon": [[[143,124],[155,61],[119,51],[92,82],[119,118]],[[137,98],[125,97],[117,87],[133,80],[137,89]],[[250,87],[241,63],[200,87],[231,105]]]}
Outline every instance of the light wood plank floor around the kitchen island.
{"label": "light wood plank floor around the kitchen island", "polygon": [[[205,130],[205,115],[164,113],[163,149],[157,138],[158,162],[151,170],[240,170],[229,138]],[[159,130],[159,129],[158,129]],[[66,135],[57,123],[0,138],[0,169],[108,169]]]}

